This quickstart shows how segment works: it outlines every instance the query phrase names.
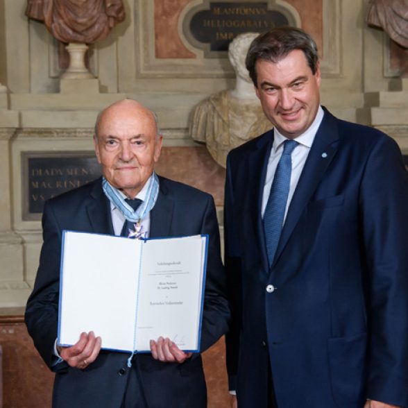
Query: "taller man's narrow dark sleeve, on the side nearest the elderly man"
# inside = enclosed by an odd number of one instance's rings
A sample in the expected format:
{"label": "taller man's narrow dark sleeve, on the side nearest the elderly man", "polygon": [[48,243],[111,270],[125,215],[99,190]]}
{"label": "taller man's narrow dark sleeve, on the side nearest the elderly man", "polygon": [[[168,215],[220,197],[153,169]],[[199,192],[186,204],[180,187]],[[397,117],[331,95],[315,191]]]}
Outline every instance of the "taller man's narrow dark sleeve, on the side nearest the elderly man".
{"label": "taller man's narrow dark sleeve, on the side nearest the elderly man", "polygon": [[237,389],[236,377],[239,357],[239,333],[241,331],[241,257],[234,214],[234,187],[230,155],[227,158],[227,176],[224,203],[224,239],[228,300],[230,301],[232,320],[226,336],[226,359],[230,390]]}

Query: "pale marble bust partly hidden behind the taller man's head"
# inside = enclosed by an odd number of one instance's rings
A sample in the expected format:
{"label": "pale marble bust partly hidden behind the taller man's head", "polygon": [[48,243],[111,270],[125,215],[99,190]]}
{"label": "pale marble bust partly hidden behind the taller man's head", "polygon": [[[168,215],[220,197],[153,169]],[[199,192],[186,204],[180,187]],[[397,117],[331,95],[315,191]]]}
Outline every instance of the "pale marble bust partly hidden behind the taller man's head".
{"label": "pale marble bust partly hidden behind the taller man's head", "polygon": [[240,34],[230,43],[228,58],[236,74],[235,88],[210,95],[192,114],[190,135],[196,142],[205,142],[212,158],[223,167],[232,148],[272,128],[245,67],[246,53],[257,35]]}

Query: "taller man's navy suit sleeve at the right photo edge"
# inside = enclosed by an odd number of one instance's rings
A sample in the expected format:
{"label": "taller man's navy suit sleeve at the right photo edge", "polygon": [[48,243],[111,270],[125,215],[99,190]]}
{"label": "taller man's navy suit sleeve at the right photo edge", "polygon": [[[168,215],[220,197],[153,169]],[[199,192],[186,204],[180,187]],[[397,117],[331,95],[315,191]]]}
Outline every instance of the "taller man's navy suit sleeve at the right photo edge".
{"label": "taller man's navy suit sleeve at the right photo edge", "polygon": [[367,398],[408,407],[408,173],[389,137],[369,155],[360,208],[368,271]]}

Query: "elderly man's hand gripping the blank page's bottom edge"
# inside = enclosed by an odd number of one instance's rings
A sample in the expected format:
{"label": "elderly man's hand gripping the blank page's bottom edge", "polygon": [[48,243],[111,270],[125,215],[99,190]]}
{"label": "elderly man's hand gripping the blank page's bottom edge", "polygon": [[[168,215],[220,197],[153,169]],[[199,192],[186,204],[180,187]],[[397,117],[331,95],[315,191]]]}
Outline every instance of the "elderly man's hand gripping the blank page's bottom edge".
{"label": "elderly man's hand gripping the blank page's bottom edge", "polygon": [[79,340],[70,347],[58,347],[58,353],[71,367],[83,370],[93,363],[101,350],[101,337],[94,332],[81,333]]}

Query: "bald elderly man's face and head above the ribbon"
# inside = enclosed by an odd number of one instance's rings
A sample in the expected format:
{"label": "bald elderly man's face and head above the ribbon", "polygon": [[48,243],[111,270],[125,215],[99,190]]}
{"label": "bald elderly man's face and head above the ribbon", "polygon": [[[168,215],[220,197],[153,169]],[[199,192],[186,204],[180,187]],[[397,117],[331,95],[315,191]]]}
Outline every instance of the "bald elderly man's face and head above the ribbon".
{"label": "bald elderly man's face and head above the ribbon", "polygon": [[162,137],[156,135],[151,112],[125,100],[103,112],[94,145],[106,180],[134,198],[153,173]]}

